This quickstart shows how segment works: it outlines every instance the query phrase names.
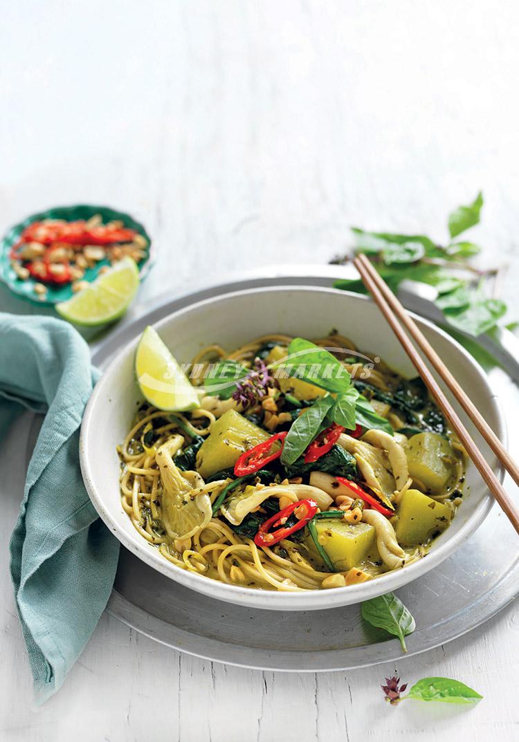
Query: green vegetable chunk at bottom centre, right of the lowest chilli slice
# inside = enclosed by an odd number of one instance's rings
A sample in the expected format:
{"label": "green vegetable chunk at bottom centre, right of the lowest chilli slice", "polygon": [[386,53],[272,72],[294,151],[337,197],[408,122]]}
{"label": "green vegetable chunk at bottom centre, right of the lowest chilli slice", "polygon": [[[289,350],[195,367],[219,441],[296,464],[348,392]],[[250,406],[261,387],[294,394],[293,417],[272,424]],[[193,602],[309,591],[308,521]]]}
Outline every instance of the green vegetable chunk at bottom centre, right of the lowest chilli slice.
{"label": "green vegetable chunk at bottom centre, right of the lowest chilli slice", "polygon": [[[358,567],[368,559],[377,559],[375,529],[368,523],[345,523],[339,519],[316,521],[316,531],[324,551],[336,572]],[[311,554],[316,559],[316,548],[310,538],[305,539]]]}

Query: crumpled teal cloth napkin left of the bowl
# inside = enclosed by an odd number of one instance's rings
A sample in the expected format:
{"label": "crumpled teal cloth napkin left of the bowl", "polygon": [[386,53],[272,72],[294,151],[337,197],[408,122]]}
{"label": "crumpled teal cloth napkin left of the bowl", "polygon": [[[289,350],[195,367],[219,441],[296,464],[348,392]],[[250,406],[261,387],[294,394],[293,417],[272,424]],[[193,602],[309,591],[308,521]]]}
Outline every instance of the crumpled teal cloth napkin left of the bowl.
{"label": "crumpled teal cloth napkin left of the bowl", "polygon": [[79,427],[97,376],[71,325],[0,313],[0,439],[24,408],[45,413],[10,541],[37,703],[59,689],[81,654],[117,569],[119,542],[99,520],[79,469]]}

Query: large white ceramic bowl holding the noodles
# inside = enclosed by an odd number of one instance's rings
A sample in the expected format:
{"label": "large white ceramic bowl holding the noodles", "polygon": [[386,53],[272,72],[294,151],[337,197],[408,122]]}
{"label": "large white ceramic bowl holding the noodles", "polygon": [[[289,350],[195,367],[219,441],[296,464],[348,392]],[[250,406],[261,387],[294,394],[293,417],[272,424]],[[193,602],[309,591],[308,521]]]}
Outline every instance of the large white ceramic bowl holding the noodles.
{"label": "large white ceramic bowl holding the noodles", "polygon": [[[478,404],[483,417],[499,436],[504,421],[486,375],[471,356],[445,332],[415,317],[425,336]],[[369,299],[335,289],[298,286],[251,289],[201,301],[175,312],[156,325],[157,331],[179,361],[189,361],[211,343],[237,347],[266,332],[286,332],[316,338],[336,328],[359,349],[374,352],[408,377],[414,367],[394,338],[379,309]],[[470,463],[466,497],[450,527],[434,542],[430,553],[398,571],[362,585],[301,593],[260,591],[225,585],[184,571],[160,556],[131,525],[120,505],[120,464],[116,446],[125,438],[140,400],[134,376],[134,338],[111,362],[99,380],[82,423],[80,456],[88,493],[99,515],[120,542],[148,565],[203,594],[255,608],[313,610],[358,603],[399,588],[434,569],[474,533],[492,507],[486,485]],[[458,407],[454,405],[457,410]],[[458,410],[460,412],[460,410]],[[460,412],[474,439],[488,453],[499,476],[500,467],[479,434]]]}

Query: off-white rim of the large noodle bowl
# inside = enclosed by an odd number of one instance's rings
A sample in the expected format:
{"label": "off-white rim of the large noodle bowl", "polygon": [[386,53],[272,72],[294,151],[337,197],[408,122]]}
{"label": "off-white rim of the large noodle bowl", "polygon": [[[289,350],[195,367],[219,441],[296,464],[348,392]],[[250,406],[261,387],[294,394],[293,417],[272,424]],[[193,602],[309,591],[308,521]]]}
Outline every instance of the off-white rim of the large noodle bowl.
{"label": "off-white rim of the large noodle bowl", "polygon": [[[309,293],[319,293],[327,295],[337,295],[352,298],[354,301],[359,302],[370,302],[373,304],[373,300],[369,296],[363,296],[354,292],[343,291],[342,289],[332,289],[324,286],[304,286],[304,285],[283,285],[278,286],[259,286],[252,289],[240,289],[234,292],[224,292],[210,298],[197,301],[195,303],[183,306],[181,309],[172,312],[166,317],[163,317],[159,321],[154,323],[154,328],[160,330],[160,326],[168,323],[172,318],[178,318],[182,315],[189,314],[197,309],[203,308],[218,301],[225,301],[228,299],[239,298],[244,295],[250,294],[261,294],[261,293],[279,293],[287,291],[302,291]],[[448,335],[440,327],[436,326],[431,321],[420,317],[414,312],[409,312],[411,317],[414,318],[418,324],[427,326],[432,330],[433,333],[437,333],[440,337],[444,338],[448,344],[451,344],[457,352],[460,352],[473,370],[479,375],[483,385],[489,390],[489,401],[494,407],[497,418],[497,436],[506,445],[506,420],[503,414],[503,409],[500,405],[497,395],[492,393],[492,388],[489,385],[489,380],[486,373],[477,364],[474,358],[461,346],[451,335]],[[341,605],[349,605],[354,603],[362,603],[364,600],[369,600],[372,597],[388,593],[396,590],[403,585],[408,584],[420,577],[421,574],[434,569],[444,559],[451,556],[454,551],[457,550],[469,537],[477,531],[477,528],[483,523],[488,516],[490,510],[494,506],[494,500],[486,490],[483,498],[477,508],[471,513],[471,516],[467,519],[467,522],[461,526],[460,530],[452,536],[451,539],[447,539],[445,543],[440,545],[437,551],[433,551],[428,554],[428,559],[418,560],[411,565],[408,565],[405,569],[398,571],[391,571],[386,574],[382,574],[376,578],[376,580],[369,580],[363,582],[360,585],[349,585],[345,588],[334,588],[333,590],[325,591],[301,591],[301,592],[281,592],[281,591],[262,591],[257,588],[244,588],[240,585],[228,585],[225,582],[218,582],[217,580],[210,580],[208,577],[202,574],[196,574],[195,572],[184,570],[167,559],[164,559],[156,549],[149,548],[148,542],[142,539],[141,536],[135,532],[135,534],[128,535],[122,529],[120,529],[117,520],[111,516],[111,513],[105,508],[103,499],[99,496],[97,489],[94,485],[94,478],[92,476],[91,462],[88,456],[88,438],[91,431],[91,421],[94,417],[94,410],[96,410],[97,401],[102,395],[105,380],[111,375],[111,373],[117,369],[120,365],[120,358],[128,353],[131,347],[137,345],[140,335],[134,336],[130,341],[124,344],[123,347],[117,350],[111,361],[103,370],[101,377],[97,381],[94,387],[93,393],[91,394],[88,404],[85,408],[85,413],[82,419],[81,431],[79,436],[79,461],[82,471],[83,481],[88,492],[88,496],[91,502],[99,513],[100,518],[109,530],[117,536],[117,539],[123,544],[128,551],[131,551],[139,559],[142,559],[147,565],[156,569],[160,573],[166,575],[174,582],[180,582],[195,591],[214,597],[218,600],[223,600],[227,603],[235,603],[237,605],[248,605],[256,608],[273,609],[273,610],[319,610],[323,608],[339,607]],[[396,338],[395,338],[395,342]],[[494,467],[494,473],[500,482],[504,479],[503,466],[497,462]],[[424,569],[425,565],[425,569]],[[403,578],[403,579],[402,579]],[[347,600],[345,597],[347,595]],[[353,600],[351,600],[353,598]],[[258,605],[259,604],[259,605]]]}

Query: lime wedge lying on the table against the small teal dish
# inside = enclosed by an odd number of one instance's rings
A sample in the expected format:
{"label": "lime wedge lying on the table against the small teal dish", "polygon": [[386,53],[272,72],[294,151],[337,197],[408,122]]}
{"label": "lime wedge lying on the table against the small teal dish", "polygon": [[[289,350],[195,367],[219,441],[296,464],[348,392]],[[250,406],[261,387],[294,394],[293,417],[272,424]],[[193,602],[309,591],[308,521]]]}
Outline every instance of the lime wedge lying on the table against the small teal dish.
{"label": "lime wedge lying on the table against the small teal dish", "polygon": [[74,324],[92,327],[119,319],[139,288],[139,269],[132,257],[123,257],[114,268],[100,275],[67,301],[56,304],[56,312]]}

